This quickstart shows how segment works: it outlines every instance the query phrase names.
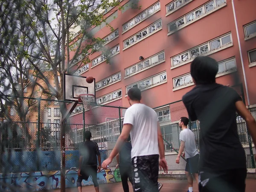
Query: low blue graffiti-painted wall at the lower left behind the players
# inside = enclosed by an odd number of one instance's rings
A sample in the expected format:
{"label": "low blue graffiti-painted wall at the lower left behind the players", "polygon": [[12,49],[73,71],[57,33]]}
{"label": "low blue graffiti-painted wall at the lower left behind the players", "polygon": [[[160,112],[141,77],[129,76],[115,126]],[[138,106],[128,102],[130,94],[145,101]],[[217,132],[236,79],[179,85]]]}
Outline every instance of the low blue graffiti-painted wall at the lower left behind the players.
{"label": "low blue graffiti-painted wall at the lower left behind the players", "polygon": [[[78,170],[66,171],[66,187],[76,187]],[[110,168],[102,169],[97,174],[97,180],[100,184],[120,182],[121,177],[119,169]],[[60,189],[61,187],[60,171],[55,172],[33,172],[33,173],[16,173],[16,174],[0,174],[0,192],[10,192],[12,187],[19,191],[43,191],[49,189]],[[82,186],[93,185],[92,178],[89,177],[87,181],[83,180]]]}

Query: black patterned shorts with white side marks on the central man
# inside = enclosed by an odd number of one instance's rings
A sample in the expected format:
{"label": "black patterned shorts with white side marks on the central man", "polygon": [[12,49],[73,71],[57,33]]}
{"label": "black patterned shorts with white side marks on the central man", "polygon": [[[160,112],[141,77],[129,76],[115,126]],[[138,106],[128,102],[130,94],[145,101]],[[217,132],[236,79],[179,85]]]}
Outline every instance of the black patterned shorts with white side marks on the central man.
{"label": "black patterned shorts with white side marks on the central man", "polygon": [[158,192],[159,155],[132,158],[135,192]]}

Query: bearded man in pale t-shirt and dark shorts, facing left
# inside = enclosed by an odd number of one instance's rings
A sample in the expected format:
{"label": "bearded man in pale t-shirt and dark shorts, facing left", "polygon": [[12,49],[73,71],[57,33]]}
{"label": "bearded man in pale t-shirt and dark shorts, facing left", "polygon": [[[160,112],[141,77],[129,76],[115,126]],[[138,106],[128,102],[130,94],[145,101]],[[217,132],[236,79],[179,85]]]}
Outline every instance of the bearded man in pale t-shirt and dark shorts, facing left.
{"label": "bearded man in pale t-shirt and dark shorts, facing left", "polygon": [[[187,128],[189,124],[189,119],[187,117],[181,117],[179,121],[180,131],[180,151],[176,159],[176,163],[180,163],[180,155],[185,151],[183,156],[186,158],[186,168],[185,173],[189,183],[188,192],[193,192],[193,178],[195,177],[198,183],[198,161],[199,153],[195,145],[195,134]],[[192,174],[192,175],[191,175]]]}

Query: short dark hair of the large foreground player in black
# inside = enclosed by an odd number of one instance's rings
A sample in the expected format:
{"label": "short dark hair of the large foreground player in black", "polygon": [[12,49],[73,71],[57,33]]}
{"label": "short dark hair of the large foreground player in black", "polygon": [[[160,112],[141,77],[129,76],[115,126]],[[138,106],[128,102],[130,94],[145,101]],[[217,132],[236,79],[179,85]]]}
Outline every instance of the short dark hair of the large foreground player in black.
{"label": "short dark hair of the large foreground player in black", "polygon": [[195,84],[215,83],[215,76],[218,73],[218,63],[213,58],[198,56],[190,65],[190,73],[195,80]]}

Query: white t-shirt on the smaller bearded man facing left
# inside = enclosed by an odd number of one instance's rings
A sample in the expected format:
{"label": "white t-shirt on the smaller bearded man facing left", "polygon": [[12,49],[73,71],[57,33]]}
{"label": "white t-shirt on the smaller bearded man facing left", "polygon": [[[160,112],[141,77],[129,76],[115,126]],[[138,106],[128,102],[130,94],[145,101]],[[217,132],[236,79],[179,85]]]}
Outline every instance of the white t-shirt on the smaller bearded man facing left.
{"label": "white t-shirt on the smaller bearded man facing left", "polygon": [[198,154],[198,150],[195,145],[195,134],[188,128],[180,131],[180,140],[185,142],[185,157],[191,158]]}

